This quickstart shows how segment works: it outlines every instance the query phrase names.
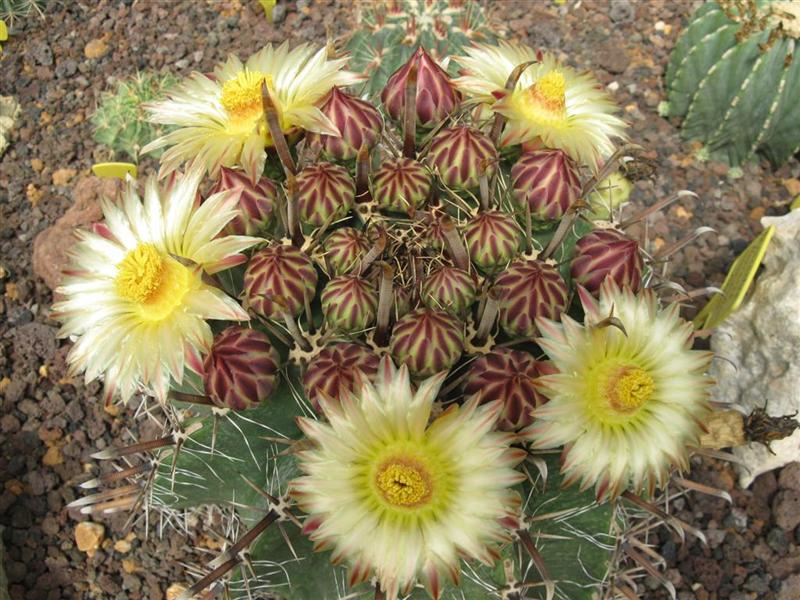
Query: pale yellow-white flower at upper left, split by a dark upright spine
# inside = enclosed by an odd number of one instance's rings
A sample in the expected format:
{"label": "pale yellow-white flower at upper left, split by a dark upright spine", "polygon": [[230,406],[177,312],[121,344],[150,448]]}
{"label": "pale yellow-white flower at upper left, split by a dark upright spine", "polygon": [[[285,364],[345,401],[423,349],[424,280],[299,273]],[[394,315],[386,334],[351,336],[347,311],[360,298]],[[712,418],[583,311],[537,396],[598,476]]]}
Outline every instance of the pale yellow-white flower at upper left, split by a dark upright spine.
{"label": "pale yellow-white flower at upper left, split by a dark upright spine", "polygon": [[272,137],[264,119],[262,84],[278,111],[281,130],[298,129],[338,136],[318,105],[334,86],[362,76],[342,70],[346,59],[328,60],[327,50],[301,44],[269,44],[245,63],[229,56],[213,75],[193,73],[166,100],[146,105],[150,121],[178,127],[147,144],[142,152],[170,147],[161,157],[166,175],[184,162],[216,176],[220,167],[241,165],[255,182],[264,169]]}

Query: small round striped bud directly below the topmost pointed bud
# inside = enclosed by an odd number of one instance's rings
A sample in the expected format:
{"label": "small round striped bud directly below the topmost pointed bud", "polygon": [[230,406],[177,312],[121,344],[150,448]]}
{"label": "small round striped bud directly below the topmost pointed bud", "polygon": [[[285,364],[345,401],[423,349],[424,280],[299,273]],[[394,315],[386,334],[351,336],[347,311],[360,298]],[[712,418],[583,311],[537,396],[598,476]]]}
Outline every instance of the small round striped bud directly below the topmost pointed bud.
{"label": "small round striped bud directly below the topmost pointed bud", "polygon": [[410,158],[387,160],[372,176],[372,197],[386,210],[407,213],[422,208],[430,191],[430,171]]}

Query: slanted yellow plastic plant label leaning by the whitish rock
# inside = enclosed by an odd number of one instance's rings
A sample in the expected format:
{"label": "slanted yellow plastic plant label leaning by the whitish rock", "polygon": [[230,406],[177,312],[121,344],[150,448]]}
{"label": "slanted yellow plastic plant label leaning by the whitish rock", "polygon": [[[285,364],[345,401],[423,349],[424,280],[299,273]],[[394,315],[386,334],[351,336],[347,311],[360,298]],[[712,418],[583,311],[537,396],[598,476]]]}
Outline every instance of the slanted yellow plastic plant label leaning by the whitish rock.
{"label": "slanted yellow plastic plant label leaning by the whitish rock", "polygon": [[769,226],[754,239],[745,251],[733,261],[730,271],[722,283],[722,293],[717,294],[694,318],[696,329],[712,329],[727,319],[739,308],[744,300],[753,278],[756,276],[767,246],[775,233]]}

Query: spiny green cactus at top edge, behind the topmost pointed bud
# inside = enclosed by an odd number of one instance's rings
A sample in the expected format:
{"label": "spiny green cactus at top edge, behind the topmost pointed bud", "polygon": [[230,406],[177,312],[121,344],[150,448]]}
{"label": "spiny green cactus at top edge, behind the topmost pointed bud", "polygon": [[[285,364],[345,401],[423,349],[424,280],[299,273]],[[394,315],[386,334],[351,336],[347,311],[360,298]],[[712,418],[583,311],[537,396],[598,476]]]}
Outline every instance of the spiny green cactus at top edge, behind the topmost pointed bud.
{"label": "spiny green cactus at top edge, behind the topmost pointed bud", "polygon": [[472,42],[492,41],[502,34],[499,24],[472,0],[361,0],[358,5],[359,27],[346,49],[350,68],[369,75],[369,95],[382,90],[420,46],[441,62],[461,54]]}

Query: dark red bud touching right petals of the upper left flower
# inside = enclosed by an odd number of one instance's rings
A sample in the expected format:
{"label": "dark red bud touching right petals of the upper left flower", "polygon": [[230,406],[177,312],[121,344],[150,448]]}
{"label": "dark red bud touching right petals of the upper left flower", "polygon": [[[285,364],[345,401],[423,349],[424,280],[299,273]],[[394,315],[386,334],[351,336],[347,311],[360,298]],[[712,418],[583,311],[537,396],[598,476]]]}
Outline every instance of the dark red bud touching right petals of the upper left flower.
{"label": "dark red bud touching right petals of the upper left flower", "polygon": [[323,153],[335,160],[355,158],[362,146],[372,148],[383,129],[383,119],[372,104],[339,88],[333,88],[320,110],[340,135],[310,133],[307,137],[309,143],[318,143]]}

